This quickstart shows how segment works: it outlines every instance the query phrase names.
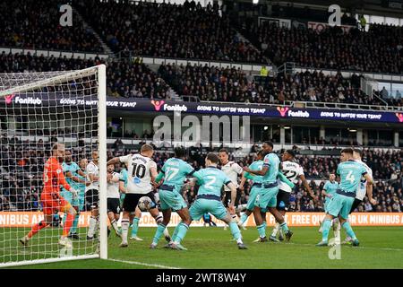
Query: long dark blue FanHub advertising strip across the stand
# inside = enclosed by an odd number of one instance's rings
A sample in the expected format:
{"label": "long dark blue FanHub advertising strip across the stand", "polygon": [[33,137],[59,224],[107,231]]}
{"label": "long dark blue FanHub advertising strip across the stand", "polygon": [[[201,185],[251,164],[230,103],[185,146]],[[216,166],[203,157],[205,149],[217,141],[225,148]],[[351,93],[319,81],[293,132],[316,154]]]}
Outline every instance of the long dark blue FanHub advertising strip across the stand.
{"label": "long dark blue FanHub advertising strip across the stand", "polygon": [[[97,100],[64,98],[61,95],[10,95],[0,99],[0,110],[4,108],[33,107],[80,107],[95,106]],[[125,99],[107,97],[107,109],[125,109],[154,113],[177,112],[188,114],[213,114],[251,117],[283,117],[323,120],[349,120],[371,123],[403,123],[403,112],[369,111],[358,109],[297,109],[283,106],[268,106],[246,103],[184,102],[170,100]]]}

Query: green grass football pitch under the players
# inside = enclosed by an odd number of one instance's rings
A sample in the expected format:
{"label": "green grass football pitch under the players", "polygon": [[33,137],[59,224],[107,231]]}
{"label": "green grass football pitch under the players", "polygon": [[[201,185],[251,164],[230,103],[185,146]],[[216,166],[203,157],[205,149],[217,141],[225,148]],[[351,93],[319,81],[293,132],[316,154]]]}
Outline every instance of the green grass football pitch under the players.
{"label": "green grass football pitch under the players", "polygon": [[[248,227],[247,230],[242,230],[244,243],[249,248],[247,250],[238,250],[236,242],[231,241],[230,231],[219,227],[191,227],[183,242],[187,251],[163,248],[166,244],[164,239],[161,239],[158,249],[150,249],[155,230],[140,228],[138,235],[144,240],[130,240],[128,248],[119,248],[120,239],[112,232],[108,239],[107,260],[86,259],[14,268],[403,268],[403,227],[356,227],[360,247],[341,246],[340,259],[330,259],[329,247],[314,246],[321,239],[316,227],[293,228],[294,236],[291,241],[279,243],[253,243],[253,239],[257,238],[257,231],[254,227]],[[83,238],[85,230],[80,231]],[[169,231],[172,234],[174,228],[169,228]],[[342,239],[344,237],[342,230]],[[57,248],[56,242],[57,238],[54,237],[47,249]],[[74,248],[81,244],[81,250],[93,250],[90,245],[82,245],[83,242],[75,242]],[[15,244],[17,243],[16,239]],[[17,253],[23,252],[24,248],[18,247],[16,250]],[[25,248],[25,252],[30,253],[30,248]]]}

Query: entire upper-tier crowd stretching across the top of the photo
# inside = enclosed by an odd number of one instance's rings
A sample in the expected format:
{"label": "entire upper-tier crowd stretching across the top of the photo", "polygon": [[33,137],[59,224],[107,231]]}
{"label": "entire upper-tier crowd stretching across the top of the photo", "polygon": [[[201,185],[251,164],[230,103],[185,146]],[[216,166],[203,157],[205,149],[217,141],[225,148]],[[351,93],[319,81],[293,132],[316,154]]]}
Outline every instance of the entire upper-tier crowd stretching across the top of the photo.
{"label": "entire upper-tier crowd stretching across the top of the photo", "polygon": [[[287,29],[272,22],[230,20],[218,4],[100,0],[73,2],[73,25],[63,27],[59,6],[53,0],[3,1],[0,46],[103,52],[94,29],[115,52],[135,56],[259,64],[270,59],[275,65],[295,62],[318,69],[403,73],[402,27]],[[234,27],[241,27],[255,48]]]}

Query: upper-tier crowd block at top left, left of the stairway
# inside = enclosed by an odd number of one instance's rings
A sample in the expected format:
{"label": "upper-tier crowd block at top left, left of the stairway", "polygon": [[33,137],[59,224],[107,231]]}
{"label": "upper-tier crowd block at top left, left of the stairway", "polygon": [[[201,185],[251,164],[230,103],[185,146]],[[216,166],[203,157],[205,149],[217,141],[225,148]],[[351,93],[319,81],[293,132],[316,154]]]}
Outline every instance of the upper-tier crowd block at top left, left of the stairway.
{"label": "upper-tier crowd block at top left, left of the stairway", "polygon": [[60,2],[5,0],[0,2],[0,47],[64,51],[103,51],[99,40],[74,12],[71,26],[62,26]]}

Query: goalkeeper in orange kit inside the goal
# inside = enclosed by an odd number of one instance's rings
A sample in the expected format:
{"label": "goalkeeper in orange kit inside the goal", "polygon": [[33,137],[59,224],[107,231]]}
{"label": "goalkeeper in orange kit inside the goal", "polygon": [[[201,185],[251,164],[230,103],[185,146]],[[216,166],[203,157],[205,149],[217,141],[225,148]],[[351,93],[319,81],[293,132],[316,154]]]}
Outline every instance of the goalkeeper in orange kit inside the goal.
{"label": "goalkeeper in orange kit inside the goal", "polygon": [[32,226],[30,232],[20,239],[22,245],[27,246],[28,241],[47,225],[52,223],[53,214],[57,211],[65,213],[65,223],[63,226],[63,235],[59,239],[59,244],[72,248],[72,241],[67,238],[70,228],[72,227],[76,211],[72,204],[60,196],[59,189],[63,186],[67,191],[73,194],[73,198],[77,198],[78,192],[66,182],[63,174],[63,168],[60,162],[64,161],[64,144],[56,143],[52,147],[52,156],[45,163],[43,171],[44,188],[40,195],[40,203],[43,206],[44,220]]}

